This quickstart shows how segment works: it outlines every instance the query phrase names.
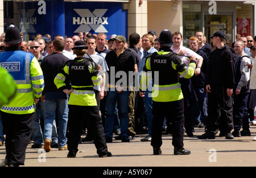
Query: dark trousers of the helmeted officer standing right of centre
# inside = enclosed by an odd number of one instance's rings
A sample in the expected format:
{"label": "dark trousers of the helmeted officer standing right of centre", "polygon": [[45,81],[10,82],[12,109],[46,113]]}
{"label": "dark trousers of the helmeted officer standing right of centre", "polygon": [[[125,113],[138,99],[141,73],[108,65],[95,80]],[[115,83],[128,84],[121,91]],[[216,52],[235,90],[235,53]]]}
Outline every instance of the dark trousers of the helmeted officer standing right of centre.
{"label": "dark trousers of the helmeted officer standing right of centre", "polygon": [[153,121],[151,127],[151,146],[162,146],[162,126],[164,117],[166,122],[172,123],[172,145],[174,147],[183,147],[184,134],[184,103],[182,100],[171,102],[153,101],[152,114]]}

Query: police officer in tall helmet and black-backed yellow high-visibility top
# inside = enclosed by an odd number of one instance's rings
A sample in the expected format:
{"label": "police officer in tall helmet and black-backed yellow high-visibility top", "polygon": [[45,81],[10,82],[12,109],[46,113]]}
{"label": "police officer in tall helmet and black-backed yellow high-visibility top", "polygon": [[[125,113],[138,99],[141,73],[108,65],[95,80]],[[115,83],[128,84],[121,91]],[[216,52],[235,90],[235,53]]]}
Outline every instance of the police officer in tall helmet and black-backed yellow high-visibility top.
{"label": "police officer in tall helmet and black-backed yellow high-visibility top", "polygon": [[189,155],[191,152],[183,147],[184,134],[184,105],[183,94],[181,92],[179,75],[190,78],[195,73],[196,59],[191,55],[191,62],[187,66],[170,49],[174,44],[172,34],[169,30],[160,33],[159,52],[154,52],[147,56],[140,84],[140,95],[144,96],[147,82],[151,75],[154,82],[152,91],[152,128],[151,146],[153,154],[162,154],[162,126],[164,118],[172,123],[172,145],[174,155]]}

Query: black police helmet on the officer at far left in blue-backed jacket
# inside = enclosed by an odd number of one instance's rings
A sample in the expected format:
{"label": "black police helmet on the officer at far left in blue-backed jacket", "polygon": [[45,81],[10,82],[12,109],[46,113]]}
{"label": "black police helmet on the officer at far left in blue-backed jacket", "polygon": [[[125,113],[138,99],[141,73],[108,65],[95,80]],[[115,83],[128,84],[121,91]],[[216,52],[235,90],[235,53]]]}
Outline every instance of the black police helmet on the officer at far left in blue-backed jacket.
{"label": "black police helmet on the officer at far left in blue-backed jacket", "polygon": [[7,44],[19,44],[22,42],[22,38],[20,36],[20,31],[18,27],[15,27],[11,24],[5,32],[5,43]]}

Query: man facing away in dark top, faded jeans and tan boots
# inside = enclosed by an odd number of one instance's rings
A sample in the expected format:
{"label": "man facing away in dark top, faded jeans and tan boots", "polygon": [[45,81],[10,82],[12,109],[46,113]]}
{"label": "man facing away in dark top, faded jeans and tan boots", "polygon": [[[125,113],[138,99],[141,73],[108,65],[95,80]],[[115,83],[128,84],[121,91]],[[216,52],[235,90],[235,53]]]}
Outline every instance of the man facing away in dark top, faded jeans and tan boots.
{"label": "man facing away in dark top, faded jeans and tan boots", "polygon": [[[44,57],[41,68],[44,74],[46,87],[44,88],[44,96],[42,101],[46,104],[46,118],[44,119],[44,150],[51,151],[52,125],[56,117],[59,121],[58,146],[59,150],[67,150],[67,132],[68,122],[68,95],[59,91],[54,84],[54,78],[60,73],[63,65],[69,59],[62,53],[65,42],[63,39],[56,39],[53,42],[53,53]],[[68,85],[68,84],[67,84]]]}

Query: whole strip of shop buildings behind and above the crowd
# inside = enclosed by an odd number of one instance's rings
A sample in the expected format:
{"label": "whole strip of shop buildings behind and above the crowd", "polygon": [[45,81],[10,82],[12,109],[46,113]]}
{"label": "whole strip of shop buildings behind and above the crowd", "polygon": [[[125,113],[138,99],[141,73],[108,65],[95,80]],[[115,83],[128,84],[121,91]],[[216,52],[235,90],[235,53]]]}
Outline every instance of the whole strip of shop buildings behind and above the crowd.
{"label": "whole strip of shop buildings behind and above the crowd", "polygon": [[172,0],[108,0],[108,1],[5,1],[0,0],[0,33],[14,24],[25,40],[36,34],[77,35],[77,32],[105,32],[128,38],[164,29],[180,31],[183,43],[196,31],[209,36],[224,31],[231,45],[236,34],[255,36],[255,1],[172,1]]}

